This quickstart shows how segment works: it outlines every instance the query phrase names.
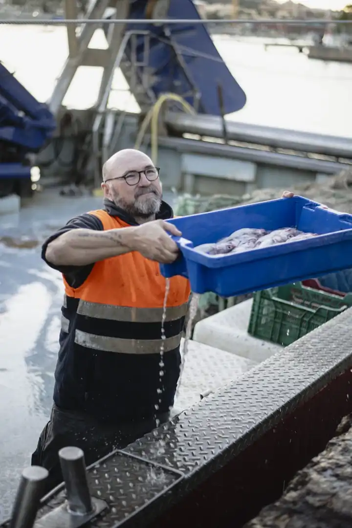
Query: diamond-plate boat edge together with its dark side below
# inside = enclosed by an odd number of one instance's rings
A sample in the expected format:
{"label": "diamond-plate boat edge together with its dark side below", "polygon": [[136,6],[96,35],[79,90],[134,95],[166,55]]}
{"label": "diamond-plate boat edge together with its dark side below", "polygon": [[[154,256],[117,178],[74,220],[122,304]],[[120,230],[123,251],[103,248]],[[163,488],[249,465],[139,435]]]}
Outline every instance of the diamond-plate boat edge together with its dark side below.
{"label": "diamond-plate boat edge together with its dark side below", "polygon": [[[253,517],[352,411],[351,329],[348,309],[90,468],[92,495],[109,506],[90,527],[234,527]],[[47,501],[39,517],[63,496]]]}

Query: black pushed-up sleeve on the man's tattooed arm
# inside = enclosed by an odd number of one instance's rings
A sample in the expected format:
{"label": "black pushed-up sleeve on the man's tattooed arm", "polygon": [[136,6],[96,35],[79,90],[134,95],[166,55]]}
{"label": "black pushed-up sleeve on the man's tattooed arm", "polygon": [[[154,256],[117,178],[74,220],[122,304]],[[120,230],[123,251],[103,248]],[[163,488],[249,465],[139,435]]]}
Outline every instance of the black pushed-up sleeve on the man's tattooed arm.
{"label": "black pushed-up sleeve on the man's tattooed arm", "polygon": [[88,278],[90,272],[93,269],[94,264],[88,264],[87,266],[55,266],[51,262],[48,262],[45,258],[46,248],[56,238],[60,237],[61,234],[71,231],[71,229],[92,229],[94,231],[103,231],[103,224],[97,216],[93,214],[84,213],[80,216],[75,216],[64,225],[61,229],[50,235],[42,246],[42,259],[53,269],[60,271],[64,276],[68,284],[72,288],[78,288],[83,284],[85,279]]}

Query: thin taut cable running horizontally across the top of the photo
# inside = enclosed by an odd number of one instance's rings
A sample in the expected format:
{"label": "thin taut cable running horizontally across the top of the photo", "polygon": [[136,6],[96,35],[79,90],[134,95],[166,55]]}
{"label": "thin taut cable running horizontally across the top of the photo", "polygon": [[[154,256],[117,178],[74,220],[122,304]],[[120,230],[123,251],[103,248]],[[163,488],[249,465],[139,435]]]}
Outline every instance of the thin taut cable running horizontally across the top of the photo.
{"label": "thin taut cable running horizontally across the top of the photo", "polygon": [[0,24],[16,24],[16,25],[62,25],[62,24],[280,24],[280,25],[327,25],[327,24],[352,24],[352,20],[318,20],[313,18],[312,20],[282,20],[281,18],[262,18],[261,20],[243,20],[232,19],[232,20],[218,20],[217,18],[153,18],[150,20],[143,18],[51,18],[49,20],[38,20],[37,18],[8,18],[7,20],[0,20]]}

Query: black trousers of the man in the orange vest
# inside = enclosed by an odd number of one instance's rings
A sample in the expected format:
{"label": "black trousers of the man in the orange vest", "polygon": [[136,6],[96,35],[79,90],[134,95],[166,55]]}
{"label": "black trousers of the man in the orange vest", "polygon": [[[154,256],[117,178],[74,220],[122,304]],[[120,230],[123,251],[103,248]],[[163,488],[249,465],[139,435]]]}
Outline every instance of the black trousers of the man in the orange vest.
{"label": "black trousers of the man in the orange vest", "polygon": [[[161,413],[156,418],[165,423],[169,413]],[[44,427],[32,455],[32,466],[43,466],[49,471],[46,494],[63,480],[58,455],[62,447],[81,448],[85,464],[89,466],[114,449],[128,446],[155,427],[155,419],[106,425],[84,414],[59,409],[54,404],[50,421]]]}

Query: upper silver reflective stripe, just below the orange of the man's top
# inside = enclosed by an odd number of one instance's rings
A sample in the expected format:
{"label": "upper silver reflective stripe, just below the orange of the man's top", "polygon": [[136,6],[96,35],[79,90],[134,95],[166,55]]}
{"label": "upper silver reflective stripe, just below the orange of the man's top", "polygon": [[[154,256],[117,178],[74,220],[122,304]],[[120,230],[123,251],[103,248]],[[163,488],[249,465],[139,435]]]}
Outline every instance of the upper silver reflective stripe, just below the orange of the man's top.
{"label": "upper silver reflective stripe, just below the orange of the man's top", "polygon": [[[166,321],[174,321],[186,315],[188,304],[166,308]],[[110,319],[125,323],[161,323],[164,308],[131,308],[112,304],[90,303],[80,300],[77,313],[97,319]]]}

